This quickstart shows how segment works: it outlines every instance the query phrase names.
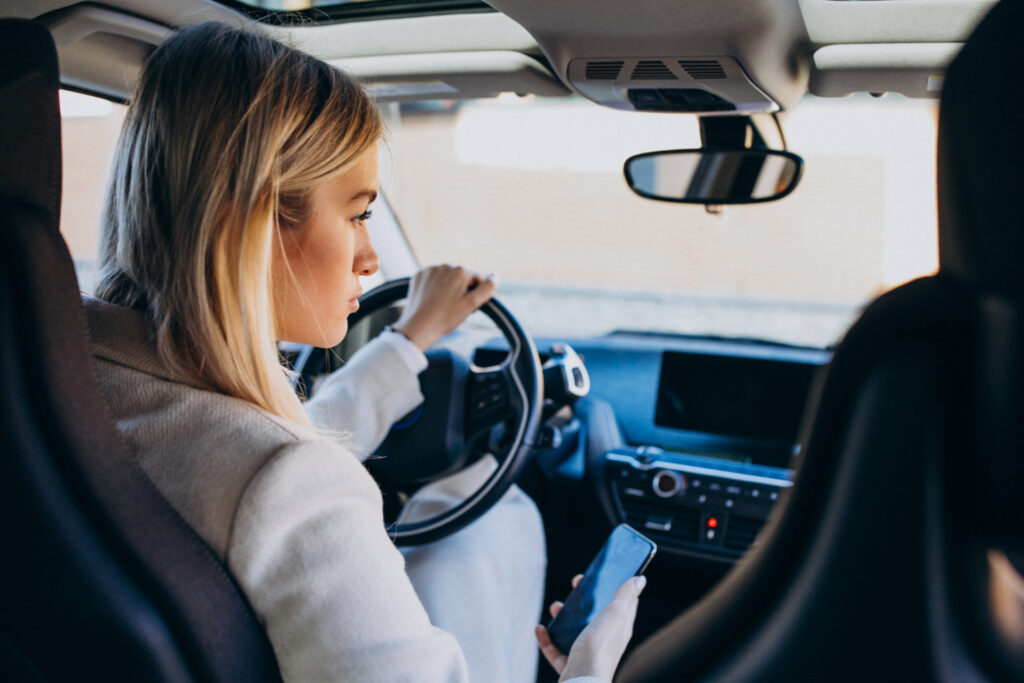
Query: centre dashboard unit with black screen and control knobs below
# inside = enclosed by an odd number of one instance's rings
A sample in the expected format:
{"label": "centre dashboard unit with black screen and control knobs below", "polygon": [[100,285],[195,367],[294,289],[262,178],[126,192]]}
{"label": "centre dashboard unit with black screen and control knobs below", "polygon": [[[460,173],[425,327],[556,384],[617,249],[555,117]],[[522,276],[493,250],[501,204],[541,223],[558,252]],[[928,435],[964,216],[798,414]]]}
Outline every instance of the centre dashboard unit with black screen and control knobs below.
{"label": "centre dashboard unit with black screen and control knobs below", "polygon": [[604,454],[599,485],[611,516],[669,552],[734,561],[792,485],[788,463],[824,360],[663,352],[652,417],[677,438]]}

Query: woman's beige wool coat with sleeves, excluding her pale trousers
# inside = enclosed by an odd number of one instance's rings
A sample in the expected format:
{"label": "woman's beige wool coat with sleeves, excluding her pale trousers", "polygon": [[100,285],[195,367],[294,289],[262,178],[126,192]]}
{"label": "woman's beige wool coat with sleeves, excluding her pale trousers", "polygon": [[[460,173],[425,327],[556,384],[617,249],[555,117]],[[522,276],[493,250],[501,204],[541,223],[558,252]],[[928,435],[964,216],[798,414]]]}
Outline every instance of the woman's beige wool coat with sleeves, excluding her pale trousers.
{"label": "woman's beige wool coat with sleeves, excluding her pale trousers", "polygon": [[[251,403],[177,381],[141,314],[85,305],[118,425],[142,470],[239,581],[285,680],[468,679],[454,637],[431,626],[417,598],[358,459]],[[358,401],[354,424],[383,433],[422,397],[415,375],[388,357],[393,349],[366,350],[348,379],[390,400]]]}

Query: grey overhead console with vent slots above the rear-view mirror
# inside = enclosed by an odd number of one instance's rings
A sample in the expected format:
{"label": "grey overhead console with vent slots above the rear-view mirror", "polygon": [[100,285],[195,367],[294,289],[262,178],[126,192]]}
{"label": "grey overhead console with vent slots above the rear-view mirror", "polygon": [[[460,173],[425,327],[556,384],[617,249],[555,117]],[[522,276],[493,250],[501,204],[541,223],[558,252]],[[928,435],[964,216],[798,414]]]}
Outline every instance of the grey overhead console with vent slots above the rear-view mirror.
{"label": "grey overhead console with vent slots above the rear-view mirror", "polygon": [[555,74],[620,110],[771,113],[805,91],[798,0],[687,0],[656,12],[610,0],[487,0],[537,40]]}

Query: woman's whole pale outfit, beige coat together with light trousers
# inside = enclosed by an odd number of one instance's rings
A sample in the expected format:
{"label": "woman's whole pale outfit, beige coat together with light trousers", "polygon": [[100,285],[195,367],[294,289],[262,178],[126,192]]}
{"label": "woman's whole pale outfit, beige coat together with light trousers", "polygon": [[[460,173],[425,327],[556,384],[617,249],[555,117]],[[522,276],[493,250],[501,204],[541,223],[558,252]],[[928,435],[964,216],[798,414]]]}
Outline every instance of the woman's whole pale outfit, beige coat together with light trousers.
{"label": "woman's whole pale outfit, beige coat together with light trousers", "polygon": [[[532,502],[513,486],[479,520],[406,558],[384,530],[380,489],[353,454],[371,453],[423,399],[397,349],[371,342],[307,402],[314,422],[346,433],[343,446],[173,377],[137,311],[91,298],[85,309],[119,427],[238,580],[286,681],[467,681],[459,643],[474,681],[532,680],[545,575]],[[425,487],[403,516],[461,500],[487,467]]]}

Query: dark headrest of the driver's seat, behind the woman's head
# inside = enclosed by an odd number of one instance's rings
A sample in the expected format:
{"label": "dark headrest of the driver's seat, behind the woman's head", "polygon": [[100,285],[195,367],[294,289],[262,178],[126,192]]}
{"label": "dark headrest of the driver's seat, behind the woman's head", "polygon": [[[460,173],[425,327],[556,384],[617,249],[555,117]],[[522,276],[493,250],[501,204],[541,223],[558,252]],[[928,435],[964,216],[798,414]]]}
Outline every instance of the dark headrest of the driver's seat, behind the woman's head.
{"label": "dark headrest of the driver's seat, behind the woman's head", "polygon": [[60,217],[59,71],[49,32],[0,20],[0,197]]}

